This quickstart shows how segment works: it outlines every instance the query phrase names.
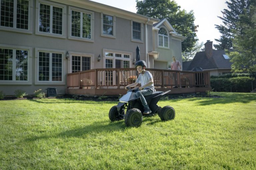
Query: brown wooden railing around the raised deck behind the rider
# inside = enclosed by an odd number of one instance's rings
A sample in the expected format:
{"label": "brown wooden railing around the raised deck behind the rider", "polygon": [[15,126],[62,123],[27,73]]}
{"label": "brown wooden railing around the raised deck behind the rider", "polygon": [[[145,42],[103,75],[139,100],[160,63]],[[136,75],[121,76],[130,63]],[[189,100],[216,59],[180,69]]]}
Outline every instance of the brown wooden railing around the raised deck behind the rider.
{"label": "brown wooden railing around the raised deck behind the rider", "polygon": [[[210,72],[192,72],[147,69],[154,79],[155,88],[208,87]],[[124,88],[137,79],[134,68],[92,69],[67,74],[68,88]]]}

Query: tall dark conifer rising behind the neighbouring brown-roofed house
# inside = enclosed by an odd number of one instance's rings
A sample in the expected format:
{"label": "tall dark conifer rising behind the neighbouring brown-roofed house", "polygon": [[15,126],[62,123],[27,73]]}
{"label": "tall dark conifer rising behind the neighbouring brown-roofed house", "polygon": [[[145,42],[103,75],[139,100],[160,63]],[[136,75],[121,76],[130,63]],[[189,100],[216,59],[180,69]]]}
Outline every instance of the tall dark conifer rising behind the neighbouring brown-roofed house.
{"label": "tall dark conifer rising behind the neighbouring brown-roofed house", "polygon": [[239,15],[244,14],[244,8],[248,9],[250,0],[230,0],[226,1],[228,9],[222,12],[223,17],[218,17],[222,20],[223,25],[215,25],[215,28],[221,33],[220,39],[215,39],[218,44],[214,44],[215,49],[232,49],[232,30],[238,30],[236,23],[239,21]]}

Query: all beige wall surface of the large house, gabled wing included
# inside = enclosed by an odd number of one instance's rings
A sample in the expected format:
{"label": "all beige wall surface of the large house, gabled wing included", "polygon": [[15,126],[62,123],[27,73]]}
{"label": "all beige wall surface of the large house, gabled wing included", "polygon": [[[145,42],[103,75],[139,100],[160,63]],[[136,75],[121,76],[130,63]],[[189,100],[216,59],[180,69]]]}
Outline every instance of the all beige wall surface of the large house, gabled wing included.
{"label": "all beige wall surface of the large house, gabled wing included", "polygon": [[[101,7],[97,8],[97,6],[94,5],[94,7],[88,6],[88,3],[93,2],[87,2],[85,1],[83,5],[75,3],[75,1],[65,1],[69,4],[63,4],[64,1],[55,1],[55,4],[57,2],[61,2],[61,6],[64,6],[66,10],[66,15],[64,17],[64,27],[63,29],[64,33],[63,36],[52,36],[51,34],[45,35],[38,33],[36,31],[36,23],[38,23],[37,16],[36,15],[36,6],[38,6],[38,1],[32,0],[31,3],[32,7],[30,9],[30,15],[32,19],[30,20],[29,27],[31,27],[31,31],[28,31],[27,33],[24,32],[17,32],[17,29],[8,29],[0,27],[0,47],[27,47],[30,48],[30,59],[29,59],[29,81],[28,83],[20,83],[20,82],[8,82],[8,81],[1,81],[0,80],[0,91],[4,91],[6,95],[14,95],[14,90],[21,89],[25,90],[26,93],[29,95],[33,95],[35,90],[42,89],[43,92],[46,93],[47,88],[57,87],[58,94],[65,94],[66,89],[66,74],[71,72],[71,55],[72,54],[81,54],[85,56],[91,57],[91,69],[95,68],[105,68],[104,64],[104,49],[112,50],[112,51],[119,51],[123,53],[129,53],[130,56],[130,63],[132,63],[133,59],[136,58],[136,47],[139,45],[140,48],[140,58],[143,60],[146,60],[146,53],[149,51],[153,51],[153,45],[155,46],[155,43],[157,43],[157,39],[155,39],[155,36],[157,34],[153,33],[152,31],[152,25],[153,22],[156,22],[156,20],[152,19],[148,25],[147,25],[147,52],[146,52],[146,35],[145,35],[145,24],[148,20],[148,18],[137,14],[132,14],[130,12],[125,11],[116,11],[113,9],[108,9],[110,7],[106,6],[104,9],[100,9]],[[53,3],[52,1],[43,1],[43,2],[49,2]],[[80,40],[73,40],[69,39],[69,17],[70,17],[70,11],[69,9],[72,6],[75,6],[76,8],[80,8],[81,10],[87,10],[91,11],[93,13],[93,28],[92,28],[92,37],[93,40],[91,41],[80,41]],[[83,7],[86,7],[82,9]],[[112,15],[115,18],[115,36],[112,38],[101,36],[101,15]],[[127,15],[126,15],[127,14]],[[142,24],[142,41],[141,42],[134,42],[132,41],[131,37],[131,21],[139,22]],[[40,35],[39,35],[40,34]],[[154,36],[153,36],[154,35]],[[172,39],[169,39],[170,47],[179,46],[181,44],[178,42],[178,45],[173,45]],[[154,44],[153,44],[154,42]],[[179,50],[180,48],[177,48]],[[62,82],[39,82],[38,79],[38,50],[46,50],[51,52],[60,52],[62,53],[62,75],[63,79]],[[170,56],[172,56],[172,53],[178,54],[178,51],[172,52],[171,49],[157,49],[161,53],[159,55],[159,60],[168,61],[170,60]],[[176,49],[174,49],[176,50]],[[69,58],[66,59],[66,52],[69,53]],[[101,60],[98,61],[98,55],[101,56]],[[181,54],[180,54],[181,55]],[[153,68],[153,59],[149,58],[150,61],[150,67]],[[160,65],[163,63],[167,67],[166,62],[157,62],[156,67],[162,68]],[[131,64],[131,67],[134,65]]]}

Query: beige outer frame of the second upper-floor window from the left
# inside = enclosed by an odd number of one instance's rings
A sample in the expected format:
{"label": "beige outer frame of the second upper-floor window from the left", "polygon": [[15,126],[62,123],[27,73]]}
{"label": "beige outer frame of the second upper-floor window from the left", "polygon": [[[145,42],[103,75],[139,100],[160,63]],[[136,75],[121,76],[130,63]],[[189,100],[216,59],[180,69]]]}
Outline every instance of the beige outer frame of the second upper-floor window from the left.
{"label": "beige outer frame of the second upper-floor window from the left", "polygon": [[[39,15],[39,12],[40,12],[40,3],[41,4],[45,4],[45,5],[50,5],[51,6],[51,11],[50,11],[50,33],[45,33],[45,32],[40,32],[39,31],[39,18],[40,18],[40,15]],[[53,34],[51,33],[52,32],[52,7],[55,6],[55,7],[58,7],[58,8],[62,8],[62,35],[60,34]],[[49,37],[56,37],[56,38],[63,38],[65,39],[66,38],[66,5],[63,5],[63,4],[58,4],[58,3],[54,3],[54,2],[51,2],[51,1],[45,1],[45,0],[36,0],[36,30],[35,30],[35,34],[36,35],[41,35],[41,36],[49,36]]]}

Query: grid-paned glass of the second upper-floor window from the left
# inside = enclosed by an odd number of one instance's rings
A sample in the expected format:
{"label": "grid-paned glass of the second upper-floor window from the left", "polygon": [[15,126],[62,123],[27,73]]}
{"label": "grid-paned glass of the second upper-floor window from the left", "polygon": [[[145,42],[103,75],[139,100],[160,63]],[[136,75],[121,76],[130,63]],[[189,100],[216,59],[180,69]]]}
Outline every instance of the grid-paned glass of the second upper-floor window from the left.
{"label": "grid-paned glass of the second upper-floor window from the left", "polygon": [[39,6],[39,32],[62,35],[63,9],[42,3]]}

